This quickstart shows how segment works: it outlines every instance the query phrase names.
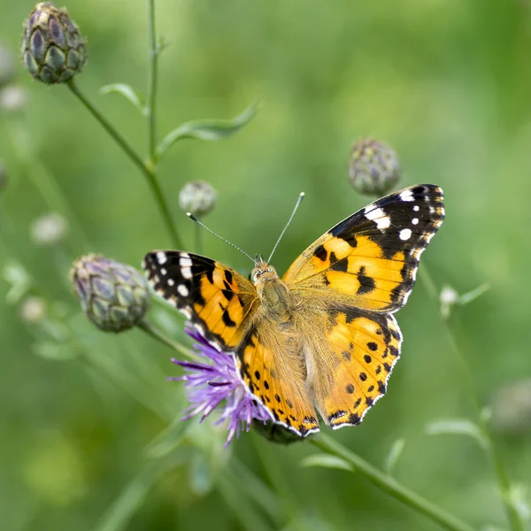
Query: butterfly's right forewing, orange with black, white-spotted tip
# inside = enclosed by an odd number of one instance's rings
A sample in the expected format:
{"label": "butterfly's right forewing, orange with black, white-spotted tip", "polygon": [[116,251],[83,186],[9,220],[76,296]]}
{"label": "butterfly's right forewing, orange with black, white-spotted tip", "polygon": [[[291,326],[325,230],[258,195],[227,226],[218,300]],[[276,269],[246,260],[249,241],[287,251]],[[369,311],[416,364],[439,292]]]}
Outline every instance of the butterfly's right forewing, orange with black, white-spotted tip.
{"label": "butterfly's right forewing, orange with black, white-spotted tip", "polygon": [[443,218],[443,190],[435,185],[382,197],[304,250],[283,280],[308,301],[324,296],[335,304],[396,312]]}

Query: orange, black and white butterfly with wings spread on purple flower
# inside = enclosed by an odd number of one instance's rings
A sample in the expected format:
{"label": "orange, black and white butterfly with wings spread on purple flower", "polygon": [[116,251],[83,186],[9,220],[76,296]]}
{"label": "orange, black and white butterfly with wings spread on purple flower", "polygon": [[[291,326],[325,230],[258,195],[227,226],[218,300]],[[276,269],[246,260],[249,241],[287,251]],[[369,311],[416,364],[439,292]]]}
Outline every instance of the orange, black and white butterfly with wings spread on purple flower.
{"label": "orange, black and white butterfly with wings spread on purple flower", "polygon": [[356,426],[386,393],[402,334],[393,313],[444,218],[443,190],[384,196],[313,242],[282,278],[263,258],[250,280],[216,260],[158,250],[150,284],[230,353],[273,422],[296,435]]}

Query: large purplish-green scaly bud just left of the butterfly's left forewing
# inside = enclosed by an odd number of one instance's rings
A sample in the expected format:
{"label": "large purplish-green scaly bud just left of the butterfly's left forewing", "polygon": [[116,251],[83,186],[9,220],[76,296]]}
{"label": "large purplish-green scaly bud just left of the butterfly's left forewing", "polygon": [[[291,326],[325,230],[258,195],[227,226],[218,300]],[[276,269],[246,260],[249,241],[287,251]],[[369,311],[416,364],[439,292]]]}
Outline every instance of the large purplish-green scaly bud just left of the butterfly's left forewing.
{"label": "large purplish-green scaly bud just left of the butterfly's left forewing", "polygon": [[140,323],[150,305],[147,281],[134,267],[88,255],[73,264],[73,288],[87,317],[105,332],[124,332]]}

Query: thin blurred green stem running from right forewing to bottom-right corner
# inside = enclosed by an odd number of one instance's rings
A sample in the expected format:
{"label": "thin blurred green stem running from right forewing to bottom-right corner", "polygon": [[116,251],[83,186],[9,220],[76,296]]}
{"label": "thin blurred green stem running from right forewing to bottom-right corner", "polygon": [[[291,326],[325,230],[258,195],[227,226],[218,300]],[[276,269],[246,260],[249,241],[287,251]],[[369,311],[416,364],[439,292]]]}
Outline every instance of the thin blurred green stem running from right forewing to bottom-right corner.
{"label": "thin blurred green stem running from right forewing to bottom-right corner", "polygon": [[[435,282],[433,281],[427,269],[426,264],[419,268],[419,278],[420,278],[420,281],[424,284],[424,287],[427,290],[428,295],[432,298],[432,301],[435,303],[435,306],[437,307],[437,311],[438,311],[438,304],[439,304],[438,292],[435,287]],[[458,363],[461,366],[463,376],[466,380],[465,387],[466,389],[468,389],[470,402],[473,404],[473,408],[476,411],[478,425],[481,429],[482,435],[484,436],[485,440],[488,443],[487,454],[489,456],[490,462],[496,473],[498,489],[500,489],[502,503],[504,504],[504,510],[507,515],[507,519],[509,520],[512,531],[525,531],[526,527],[524,525],[524,522],[522,521],[517,508],[512,503],[511,481],[509,480],[509,476],[507,474],[507,471],[505,470],[502,458],[500,457],[498,451],[496,450],[496,445],[494,443],[494,438],[490,431],[489,422],[481,414],[481,403],[480,403],[478,396],[473,390],[474,388],[473,388],[472,373],[470,372],[470,368],[468,364],[466,363],[465,356],[459,349],[458,342],[455,338],[453,330],[450,327],[450,323],[448,319],[441,319],[441,320],[443,321],[443,326],[446,331],[448,341],[450,342],[450,346],[452,350],[454,351],[456,358],[458,359]]]}

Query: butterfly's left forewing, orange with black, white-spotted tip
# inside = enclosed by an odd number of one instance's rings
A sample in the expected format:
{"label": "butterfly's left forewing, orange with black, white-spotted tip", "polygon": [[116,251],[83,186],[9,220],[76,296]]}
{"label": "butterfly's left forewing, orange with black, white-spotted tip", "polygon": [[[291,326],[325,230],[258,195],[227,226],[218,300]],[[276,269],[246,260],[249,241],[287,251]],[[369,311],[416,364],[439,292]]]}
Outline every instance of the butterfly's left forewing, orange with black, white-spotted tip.
{"label": "butterfly's left forewing, orange with black, white-spotted tip", "polygon": [[173,304],[221,350],[242,342],[258,305],[254,286],[242,274],[210,258],[178,250],[148,253],[143,260],[158,295]]}

